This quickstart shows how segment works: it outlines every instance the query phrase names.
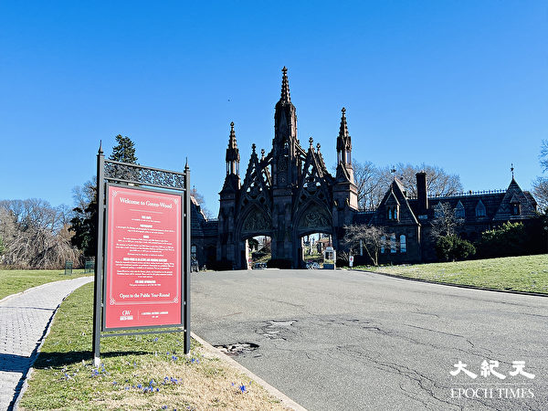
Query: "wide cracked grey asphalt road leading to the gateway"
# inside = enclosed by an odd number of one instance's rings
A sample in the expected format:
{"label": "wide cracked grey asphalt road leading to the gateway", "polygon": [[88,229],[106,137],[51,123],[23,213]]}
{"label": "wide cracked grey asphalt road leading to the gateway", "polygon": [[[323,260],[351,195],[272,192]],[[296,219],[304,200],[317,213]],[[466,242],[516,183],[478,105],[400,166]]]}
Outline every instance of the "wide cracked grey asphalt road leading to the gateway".
{"label": "wide cracked grey asphalt road leading to the gateway", "polygon": [[548,298],[342,270],[192,280],[194,332],[258,344],[237,362],[311,410],[548,409]]}

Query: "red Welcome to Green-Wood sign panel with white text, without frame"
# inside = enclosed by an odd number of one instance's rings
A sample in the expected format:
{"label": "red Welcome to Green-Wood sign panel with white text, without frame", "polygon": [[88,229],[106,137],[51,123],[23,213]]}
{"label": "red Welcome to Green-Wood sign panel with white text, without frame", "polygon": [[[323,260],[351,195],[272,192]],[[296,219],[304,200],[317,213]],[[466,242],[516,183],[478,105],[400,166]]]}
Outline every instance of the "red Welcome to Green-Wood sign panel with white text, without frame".
{"label": "red Welcome to Green-Wood sign panel with white text, without frame", "polygon": [[181,324],[181,196],[108,187],[105,326]]}

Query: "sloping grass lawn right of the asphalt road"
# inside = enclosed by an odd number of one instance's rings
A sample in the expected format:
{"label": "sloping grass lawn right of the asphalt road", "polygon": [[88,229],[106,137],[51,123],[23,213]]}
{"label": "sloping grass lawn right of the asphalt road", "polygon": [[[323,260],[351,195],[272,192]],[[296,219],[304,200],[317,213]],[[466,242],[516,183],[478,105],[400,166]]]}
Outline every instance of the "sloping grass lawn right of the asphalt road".
{"label": "sloping grass lawn right of the asphalt road", "polygon": [[548,294],[548,254],[357,269],[447,284]]}

